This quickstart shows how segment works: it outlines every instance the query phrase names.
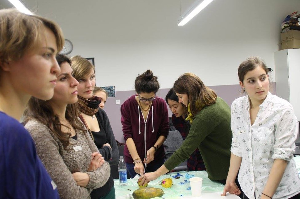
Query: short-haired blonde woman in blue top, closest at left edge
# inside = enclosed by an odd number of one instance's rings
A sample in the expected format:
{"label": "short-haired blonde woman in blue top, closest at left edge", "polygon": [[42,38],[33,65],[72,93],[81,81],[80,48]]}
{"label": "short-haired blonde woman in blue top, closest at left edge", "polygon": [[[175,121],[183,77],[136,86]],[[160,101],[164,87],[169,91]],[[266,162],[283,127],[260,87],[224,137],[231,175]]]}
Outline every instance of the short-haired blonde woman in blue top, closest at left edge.
{"label": "short-haired blonde woman in blue top, closest at left edge", "polygon": [[19,120],[31,96],[52,98],[60,73],[55,54],[63,43],[55,22],[0,10],[0,198],[58,198]]}

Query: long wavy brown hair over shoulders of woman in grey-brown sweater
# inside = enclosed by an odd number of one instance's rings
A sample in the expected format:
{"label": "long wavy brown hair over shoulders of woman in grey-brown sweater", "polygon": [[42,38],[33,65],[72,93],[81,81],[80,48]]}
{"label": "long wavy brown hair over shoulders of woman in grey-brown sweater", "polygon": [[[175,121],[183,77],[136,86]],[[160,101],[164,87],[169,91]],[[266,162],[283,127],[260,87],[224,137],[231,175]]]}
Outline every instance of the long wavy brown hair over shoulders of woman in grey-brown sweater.
{"label": "long wavy brown hair over shoulders of woman in grey-brown sweater", "polygon": [[[81,130],[86,133],[83,124],[78,119],[77,104],[68,104],[65,112],[65,118],[70,122],[75,130]],[[40,100],[35,97],[31,97],[25,111],[25,123],[30,119],[35,118],[45,126],[47,126],[53,134],[61,141],[64,149],[69,145],[69,138],[71,133],[64,133],[61,131],[61,124],[59,116],[55,115],[52,107],[48,101]],[[68,126],[65,126],[70,129]],[[70,129],[71,130],[71,129]]]}

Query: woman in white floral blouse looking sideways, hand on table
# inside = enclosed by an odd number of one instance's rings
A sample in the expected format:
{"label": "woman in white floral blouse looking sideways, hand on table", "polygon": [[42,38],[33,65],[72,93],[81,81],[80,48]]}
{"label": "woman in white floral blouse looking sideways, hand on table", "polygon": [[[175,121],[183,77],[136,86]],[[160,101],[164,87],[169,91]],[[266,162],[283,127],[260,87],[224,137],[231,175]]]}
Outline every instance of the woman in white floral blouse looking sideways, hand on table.
{"label": "woman in white floral blouse looking sideways, hand on table", "polygon": [[268,69],[259,57],[242,62],[238,75],[248,95],[231,105],[231,160],[221,195],[239,192],[234,181],[239,170],[244,199],[299,199],[293,159],[298,119],[293,107],[269,92]]}

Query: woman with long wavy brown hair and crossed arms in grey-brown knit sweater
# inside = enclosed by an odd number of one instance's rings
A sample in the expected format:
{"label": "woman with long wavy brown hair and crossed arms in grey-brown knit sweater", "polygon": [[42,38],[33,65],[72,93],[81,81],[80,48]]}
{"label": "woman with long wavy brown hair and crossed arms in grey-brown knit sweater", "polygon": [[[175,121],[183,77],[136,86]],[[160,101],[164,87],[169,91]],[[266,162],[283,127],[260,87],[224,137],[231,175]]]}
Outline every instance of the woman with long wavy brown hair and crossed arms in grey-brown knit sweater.
{"label": "woman with long wavy brown hair and crossed arms in grey-brown knit sweater", "polygon": [[31,97],[25,128],[57,185],[61,198],[90,198],[105,184],[110,167],[103,160],[76,110],[78,81],[69,58],[57,55],[61,67],[51,100]]}

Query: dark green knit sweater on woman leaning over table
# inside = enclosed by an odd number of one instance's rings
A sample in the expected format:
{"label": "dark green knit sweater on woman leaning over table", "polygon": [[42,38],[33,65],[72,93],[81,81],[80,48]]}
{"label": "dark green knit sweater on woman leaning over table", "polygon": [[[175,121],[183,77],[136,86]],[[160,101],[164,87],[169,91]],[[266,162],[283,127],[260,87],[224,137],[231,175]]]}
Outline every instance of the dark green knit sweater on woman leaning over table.
{"label": "dark green knit sweater on woman leaning over table", "polygon": [[217,98],[215,104],[199,111],[193,118],[188,137],[164,163],[165,167],[171,171],[187,160],[198,147],[208,178],[211,180],[226,179],[232,140],[230,113],[229,106],[220,97]]}

